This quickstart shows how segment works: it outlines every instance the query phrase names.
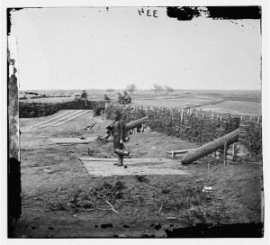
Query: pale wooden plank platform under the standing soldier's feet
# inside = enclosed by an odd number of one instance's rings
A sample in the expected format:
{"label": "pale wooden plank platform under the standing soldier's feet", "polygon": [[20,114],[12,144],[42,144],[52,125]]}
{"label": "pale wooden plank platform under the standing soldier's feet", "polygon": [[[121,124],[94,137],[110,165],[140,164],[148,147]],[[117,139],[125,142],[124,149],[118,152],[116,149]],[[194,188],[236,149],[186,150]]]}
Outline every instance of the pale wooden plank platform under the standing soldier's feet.
{"label": "pale wooden plank platform under the standing soldier's feet", "polygon": [[79,158],[91,177],[190,175],[186,167],[173,159],[124,159],[124,167],[113,163],[117,159]]}

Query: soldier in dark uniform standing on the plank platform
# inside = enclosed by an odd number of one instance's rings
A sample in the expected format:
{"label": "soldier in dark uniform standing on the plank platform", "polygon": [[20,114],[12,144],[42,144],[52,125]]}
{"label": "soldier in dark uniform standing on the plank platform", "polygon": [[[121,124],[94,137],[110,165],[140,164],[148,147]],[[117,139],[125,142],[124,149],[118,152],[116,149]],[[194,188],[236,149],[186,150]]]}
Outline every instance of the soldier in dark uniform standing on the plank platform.
{"label": "soldier in dark uniform standing on the plank platform", "polygon": [[130,151],[124,150],[123,142],[126,139],[126,123],[121,119],[121,113],[116,112],[114,114],[114,127],[113,127],[113,151],[118,155],[118,162],[114,163],[117,167],[123,166],[123,157],[129,156]]}

